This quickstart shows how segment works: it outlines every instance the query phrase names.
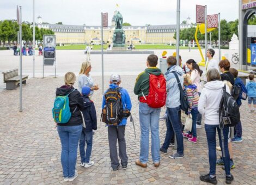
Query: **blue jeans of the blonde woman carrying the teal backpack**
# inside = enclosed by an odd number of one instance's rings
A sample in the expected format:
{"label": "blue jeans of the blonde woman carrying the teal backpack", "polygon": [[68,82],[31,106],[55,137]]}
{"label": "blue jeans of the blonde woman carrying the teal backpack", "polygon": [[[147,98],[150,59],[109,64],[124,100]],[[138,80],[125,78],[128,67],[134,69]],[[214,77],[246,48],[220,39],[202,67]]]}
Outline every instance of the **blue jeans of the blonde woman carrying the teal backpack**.
{"label": "blue jeans of the blonde woman carrying the teal backpack", "polygon": [[76,169],[78,140],[82,131],[82,124],[78,126],[57,127],[62,143],[62,169],[64,177],[73,177]]}

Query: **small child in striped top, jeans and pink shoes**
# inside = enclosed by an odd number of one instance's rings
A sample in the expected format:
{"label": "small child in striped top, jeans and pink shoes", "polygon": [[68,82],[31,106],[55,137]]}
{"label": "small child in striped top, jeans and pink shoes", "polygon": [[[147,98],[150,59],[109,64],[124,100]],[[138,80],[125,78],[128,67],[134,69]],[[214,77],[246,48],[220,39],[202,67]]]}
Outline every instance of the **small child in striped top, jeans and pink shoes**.
{"label": "small child in striped top, jeans and pink shoes", "polygon": [[[197,86],[192,84],[190,79],[190,75],[184,75],[184,86],[187,92],[188,103],[190,104],[190,108],[188,109],[188,115],[192,115],[192,129],[191,132],[183,133],[183,137],[188,138],[188,141],[192,143],[197,143],[197,106],[199,101],[199,94],[197,91]],[[193,137],[192,137],[193,135]]]}

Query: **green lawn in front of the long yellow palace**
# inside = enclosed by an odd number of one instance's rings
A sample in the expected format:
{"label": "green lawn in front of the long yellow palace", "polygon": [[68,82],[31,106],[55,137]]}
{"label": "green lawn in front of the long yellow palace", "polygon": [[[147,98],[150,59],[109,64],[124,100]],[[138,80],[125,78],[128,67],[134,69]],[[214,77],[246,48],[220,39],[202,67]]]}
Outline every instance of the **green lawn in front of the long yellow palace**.
{"label": "green lawn in front of the long yellow palace", "polygon": [[[103,45],[104,50],[106,50],[108,45]],[[128,46],[127,46],[128,47]],[[86,45],[65,45],[57,46],[57,50],[85,50]],[[135,45],[136,50],[175,50],[176,46],[167,46],[160,44],[142,44]],[[188,49],[188,47],[180,46],[180,49]],[[194,49],[194,48],[191,48]],[[93,50],[101,50],[101,45],[93,45]]]}

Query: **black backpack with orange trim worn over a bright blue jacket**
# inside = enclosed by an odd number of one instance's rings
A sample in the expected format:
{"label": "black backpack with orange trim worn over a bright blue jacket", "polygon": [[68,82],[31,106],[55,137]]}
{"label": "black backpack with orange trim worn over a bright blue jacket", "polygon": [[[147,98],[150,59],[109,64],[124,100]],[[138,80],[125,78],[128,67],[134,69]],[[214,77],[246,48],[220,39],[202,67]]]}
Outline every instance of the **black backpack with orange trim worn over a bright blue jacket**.
{"label": "black backpack with orange trim worn over a bright blue jacket", "polygon": [[102,109],[101,121],[107,125],[118,125],[124,118],[124,108],[121,101],[121,88],[108,89],[105,92],[106,105]]}

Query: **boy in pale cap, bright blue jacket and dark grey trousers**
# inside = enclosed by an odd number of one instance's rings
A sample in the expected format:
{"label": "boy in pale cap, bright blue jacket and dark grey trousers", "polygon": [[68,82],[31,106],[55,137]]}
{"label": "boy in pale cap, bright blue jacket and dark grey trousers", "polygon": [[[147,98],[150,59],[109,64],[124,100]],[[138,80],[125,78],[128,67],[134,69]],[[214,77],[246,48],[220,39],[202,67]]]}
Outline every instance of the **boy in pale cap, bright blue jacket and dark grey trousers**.
{"label": "boy in pale cap, bright blue jacket and dark grey trousers", "polygon": [[[109,89],[118,88],[121,83],[120,75],[112,74],[109,79]],[[123,104],[124,110],[131,110],[131,98],[129,93],[126,89],[121,88],[121,102]],[[106,92],[105,92],[106,93]],[[105,95],[103,95],[102,100],[102,109],[106,105]],[[121,159],[121,165],[123,169],[127,168],[128,157],[126,154],[126,143],[125,143],[125,125],[126,125],[127,118],[123,118],[120,120],[120,123],[116,126],[108,125],[108,144],[109,144],[109,153],[111,159],[111,167],[113,171],[117,171],[119,168],[119,159],[117,155],[117,140],[118,140],[118,147],[119,147],[119,157]]]}

